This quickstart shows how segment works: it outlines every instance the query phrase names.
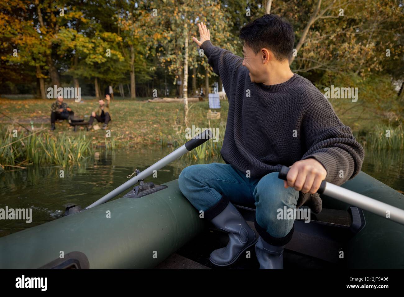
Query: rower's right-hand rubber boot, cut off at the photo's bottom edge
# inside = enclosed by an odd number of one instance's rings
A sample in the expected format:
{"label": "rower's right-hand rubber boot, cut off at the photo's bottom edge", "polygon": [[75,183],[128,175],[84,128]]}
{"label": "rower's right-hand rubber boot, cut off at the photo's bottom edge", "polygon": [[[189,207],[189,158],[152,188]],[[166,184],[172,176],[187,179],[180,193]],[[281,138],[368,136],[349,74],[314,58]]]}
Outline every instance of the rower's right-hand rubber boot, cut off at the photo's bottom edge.
{"label": "rower's right-hand rubber boot, cut off at the photo's bottom edge", "polygon": [[259,269],[283,269],[283,246],[276,247],[265,242],[261,236],[255,245]]}

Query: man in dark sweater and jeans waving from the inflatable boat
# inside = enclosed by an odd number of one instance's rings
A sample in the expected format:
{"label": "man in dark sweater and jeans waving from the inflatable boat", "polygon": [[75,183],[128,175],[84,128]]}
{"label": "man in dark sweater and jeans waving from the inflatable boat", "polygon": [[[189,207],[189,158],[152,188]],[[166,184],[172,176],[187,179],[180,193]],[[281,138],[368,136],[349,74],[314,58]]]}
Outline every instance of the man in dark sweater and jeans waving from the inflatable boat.
{"label": "man in dark sweater and jeans waving from the inflatable boat", "polygon": [[[280,213],[303,204],[319,213],[322,180],[341,185],[356,176],[364,150],[324,95],[290,70],[295,36],[286,20],[264,15],[243,27],[244,58],[213,46],[206,25],[198,27],[200,40],[193,40],[221,77],[229,101],[225,164],[186,167],[181,192],[229,234],[227,246],[210,254],[213,264],[233,264],[255,245],[261,269],[282,269],[295,218]],[[278,179],[282,165],[290,166],[287,181]],[[258,234],[233,203],[255,204]]]}

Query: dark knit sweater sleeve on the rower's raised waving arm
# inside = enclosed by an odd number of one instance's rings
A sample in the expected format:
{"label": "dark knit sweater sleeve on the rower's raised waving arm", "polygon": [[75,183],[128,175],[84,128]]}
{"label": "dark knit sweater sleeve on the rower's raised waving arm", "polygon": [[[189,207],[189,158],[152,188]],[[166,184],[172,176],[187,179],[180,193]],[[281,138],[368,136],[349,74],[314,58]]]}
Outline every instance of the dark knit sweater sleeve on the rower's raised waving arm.
{"label": "dark knit sweater sleeve on the rower's raised waving arm", "polygon": [[234,78],[237,71],[242,66],[243,58],[236,56],[229,50],[213,46],[210,40],[204,41],[200,48],[204,51],[204,54],[208,57],[208,63],[213,68],[213,72],[220,76],[226,94],[229,94],[234,86]]}

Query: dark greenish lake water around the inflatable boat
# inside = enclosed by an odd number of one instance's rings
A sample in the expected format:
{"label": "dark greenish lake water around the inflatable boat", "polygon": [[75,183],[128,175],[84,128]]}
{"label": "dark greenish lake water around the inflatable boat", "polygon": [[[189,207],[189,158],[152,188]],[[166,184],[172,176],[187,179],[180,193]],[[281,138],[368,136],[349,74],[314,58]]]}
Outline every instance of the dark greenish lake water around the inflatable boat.
{"label": "dark greenish lake water around the inflatable boat", "polygon": [[[64,178],[59,177],[63,168],[58,166],[30,167],[0,173],[0,208],[32,208],[33,214],[32,223],[29,224],[22,220],[0,220],[0,237],[63,216],[64,205],[67,203],[82,207],[90,205],[128,180],[126,176],[136,168],[142,171],[169,152],[161,148],[118,150],[112,154],[100,152],[86,163],[65,168]],[[212,161],[223,162],[221,159]],[[152,180],[155,184],[168,182],[178,178],[183,167],[194,163],[188,156],[184,156],[160,169],[157,178],[146,181]],[[362,171],[404,192],[402,151],[366,151]]]}

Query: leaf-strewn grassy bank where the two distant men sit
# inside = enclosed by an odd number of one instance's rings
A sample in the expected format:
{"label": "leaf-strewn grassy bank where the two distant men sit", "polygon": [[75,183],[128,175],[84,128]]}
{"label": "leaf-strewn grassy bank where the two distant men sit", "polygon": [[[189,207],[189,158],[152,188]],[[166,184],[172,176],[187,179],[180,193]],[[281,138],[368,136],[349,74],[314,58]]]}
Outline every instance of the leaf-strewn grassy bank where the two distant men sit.
{"label": "leaf-strewn grassy bank where the two distant men sit", "polygon": [[[119,97],[118,97],[119,98]],[[175,135],[182,133],[183,128],[183,104],[182,103],[150,103],[145,98],[139,100],[115,99],[111,103],[112,121],[108,126],[111,131],[111,138],[115,140],[116,146],[147,146],[161,144],[162,141],[170,142]],[[81,102],[65,100],[73,109],[74,114],[88,120],[85,115],[98,105],[95,98],[84,98]],[[2,112],[17,120],[27,128],[34,122],[34,128],[50,128],[50,105],[53,100],[40,99],[0,99]],[[189,123],[197,127],[208,127],[206,112],[208,102],[202,101],[190,103]],[[222,102],[221,119],[211,120],[212,125],[224,125],[227,118],[228,103]],[[9,125],[13,121],[0,115],[0,125]],[[95,121],[97,123],[97,121]],[[13,125],[17,130],[23,131],[17,123]],[[182,128],[181,128],[182,127]],[[84,128],[81,127],[84,131]],[[182,132],[181,132],[182,131]],[[55,131],[47,131],[49,134],[65,134],[76,136],[67,121],[56,123]],[[92,138],[91,142],[96,146],[105,145],[105,131],[97,130],[87,132]]]}

